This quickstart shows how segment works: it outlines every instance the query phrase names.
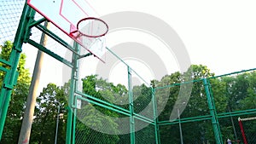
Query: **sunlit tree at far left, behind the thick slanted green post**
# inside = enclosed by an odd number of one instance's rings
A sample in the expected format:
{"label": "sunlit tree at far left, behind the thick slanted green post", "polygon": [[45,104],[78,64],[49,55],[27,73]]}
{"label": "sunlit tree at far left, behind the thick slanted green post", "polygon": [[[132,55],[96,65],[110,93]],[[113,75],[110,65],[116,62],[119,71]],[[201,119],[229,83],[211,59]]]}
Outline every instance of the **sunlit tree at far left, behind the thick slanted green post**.
{"label": "sunlit tree at far left, behind the thick slanted green post", "polygon": [[[0,58],[3,60],[9,60],[9,55],[11,53],[12,47],[13,43],[11,43],[10,41],[6,41],[5,43],[3,43],[3,46],[1,46],[2,51],[0,54]],[[5,66],[2,63],[1,65],[3,67],[9,68],[9,66]],[[9,102],[9,110],[3,130],[3,139],[1,140],[1,142],[3,143],[17,143],[19,139],[22,116],[26,107],[26,96],[28,95],[29,85],[31,81],[29,70],[26,69],[25,65],[26,55],[21,54],[19,64],[17,66],[19,77],[17,79],[17,84],[13,89],[11,100]],[[4,73],[1,72],[1,84],[3,84],[3,76]]]}

